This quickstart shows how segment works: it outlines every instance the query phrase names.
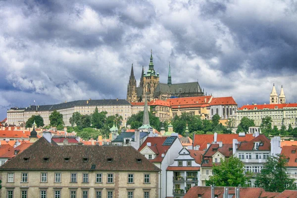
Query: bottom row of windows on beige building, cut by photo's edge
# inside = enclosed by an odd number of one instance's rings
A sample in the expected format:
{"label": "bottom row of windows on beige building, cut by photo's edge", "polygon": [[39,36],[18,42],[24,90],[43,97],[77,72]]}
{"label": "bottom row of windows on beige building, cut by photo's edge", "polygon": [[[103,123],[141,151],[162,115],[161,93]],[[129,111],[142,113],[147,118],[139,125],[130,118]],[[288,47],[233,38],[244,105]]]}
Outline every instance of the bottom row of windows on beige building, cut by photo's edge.
{"label": "bottom row of windows on beige building, cut by photo's edge", "polygon": [[[40,198],[47,198],[47,191],[42,190],[40,191]],[[77,192],[76,191],[70,191],[70,198],[77,198]],[[7,198],[13,198],[13,191],[8,190],[7,191]],[[29,198],[28,197],[28,191],[22,191],[21,192],[21,198]],[[62,198],[61,191],[54,191],[54,198]],[[89,198],[89,191],[83,191],[82,192],[82,198]],[[102,192],[96,191],[96,198],[102,198]],[[113,191],[107,191],[107,198],[114,198],[114,192]],[[128,192],[128,198],[134,198],[134,192],[129,191]],[[144,198],[149,198],[149,192],[144,192]]]}

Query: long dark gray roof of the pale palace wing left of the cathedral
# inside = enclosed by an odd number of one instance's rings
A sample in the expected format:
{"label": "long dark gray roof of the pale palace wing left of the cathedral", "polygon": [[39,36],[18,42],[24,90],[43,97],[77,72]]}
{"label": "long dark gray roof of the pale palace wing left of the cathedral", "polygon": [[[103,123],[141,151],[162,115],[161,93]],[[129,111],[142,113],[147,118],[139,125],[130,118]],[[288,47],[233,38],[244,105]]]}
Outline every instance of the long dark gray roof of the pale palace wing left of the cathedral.
{"label": "long dark gray roof of the pale palace wing left of the cathedral", "polygon": [[48,111],[57,110],[63,108],[70,108],[74,106],[106,106],[106,105],[131,105],[125,99],[91,99],[91,100],[75,100],[70,102],[64,102],[60,104],[49,105],[30,105],[25,108],[25,111]]}

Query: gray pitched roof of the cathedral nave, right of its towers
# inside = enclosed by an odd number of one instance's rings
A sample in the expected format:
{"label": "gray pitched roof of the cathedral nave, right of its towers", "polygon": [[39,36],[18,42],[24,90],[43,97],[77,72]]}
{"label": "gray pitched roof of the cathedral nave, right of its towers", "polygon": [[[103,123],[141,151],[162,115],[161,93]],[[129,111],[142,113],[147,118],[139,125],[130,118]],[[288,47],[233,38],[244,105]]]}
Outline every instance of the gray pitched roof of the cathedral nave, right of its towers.
{"label": "gray pitched roof of the cathedral nave, right of its towers", "polygon": [[155,93],[168,93],[168,94],[182,94],[182,93],[202,93],[198,82],[194,83],[179,83],[168,85],[159,83],[155,89]]}

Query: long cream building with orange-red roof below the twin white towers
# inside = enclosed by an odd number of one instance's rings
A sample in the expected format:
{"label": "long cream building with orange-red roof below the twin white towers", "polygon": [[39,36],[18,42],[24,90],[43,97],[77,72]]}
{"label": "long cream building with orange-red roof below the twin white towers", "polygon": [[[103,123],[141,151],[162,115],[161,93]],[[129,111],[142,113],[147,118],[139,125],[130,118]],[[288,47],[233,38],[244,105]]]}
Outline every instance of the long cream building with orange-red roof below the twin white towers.
{"label": "long cream building with orange-red roof below the twin white towers", "polygon": [[236,115],[236,127],[243,117],[254,120],[255,127],[260,127],[262,118],[269,116],[272,119],[272,126],[281,129],[282,125],[287,128],[289,124],[297,127],[297,103],[284,104],[252,104],[240,107]]}

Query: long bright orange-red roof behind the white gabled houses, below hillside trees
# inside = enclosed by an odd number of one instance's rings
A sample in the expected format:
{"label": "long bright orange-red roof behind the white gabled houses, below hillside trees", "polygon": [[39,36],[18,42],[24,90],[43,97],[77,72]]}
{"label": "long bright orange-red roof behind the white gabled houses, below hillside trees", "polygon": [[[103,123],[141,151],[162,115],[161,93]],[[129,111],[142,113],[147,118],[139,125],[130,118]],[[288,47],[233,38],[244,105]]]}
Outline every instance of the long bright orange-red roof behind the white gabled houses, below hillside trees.
{"label": "long bright orange-red roof behind the white gabled houses, below hillside trees", "polygon": [[[213,142],[214,134],[197,134],[194,136],[194,147],[200,146],[199,150],[206,149],[207,143]],[[233,139],[237,139],[238,142],[250,141],[254,139],[253,134],[246,134],[245,136],[239,136],[239,134],[218,134],[217,142],[223,142],[223,144],[232,144]]]}

